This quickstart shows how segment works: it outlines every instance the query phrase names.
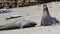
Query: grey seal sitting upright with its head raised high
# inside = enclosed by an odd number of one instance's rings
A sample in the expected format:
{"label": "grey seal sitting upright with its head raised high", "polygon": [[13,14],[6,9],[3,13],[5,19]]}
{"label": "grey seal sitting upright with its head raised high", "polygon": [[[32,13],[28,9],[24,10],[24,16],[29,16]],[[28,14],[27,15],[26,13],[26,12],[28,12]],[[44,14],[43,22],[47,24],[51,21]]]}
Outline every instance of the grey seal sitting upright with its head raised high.
{"label": "grey seal sitting upright with its head raised high", "polygon": [[56,24],[56,23],[59,23],[59,21],[56,18],[50,16],[48,7],[47,5],[44,4],[41,25],[49,26],[49,25]]}

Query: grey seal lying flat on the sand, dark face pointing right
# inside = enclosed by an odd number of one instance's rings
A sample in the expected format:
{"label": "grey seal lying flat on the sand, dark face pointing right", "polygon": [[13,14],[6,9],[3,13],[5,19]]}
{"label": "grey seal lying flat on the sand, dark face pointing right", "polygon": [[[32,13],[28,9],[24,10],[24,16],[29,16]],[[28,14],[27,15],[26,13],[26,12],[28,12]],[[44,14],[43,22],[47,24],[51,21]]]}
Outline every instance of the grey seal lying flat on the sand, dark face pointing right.
{"label": "grey seal lying flat on the sand, dark face pointing right", "polygon": [[30,21],[30,20],[17,20],[17,21],[15,21],[13,23],[1,25],[0,26],[0,31],[34,27],[35,25],[37,25],[37,23],[35,23],[34,21]]}

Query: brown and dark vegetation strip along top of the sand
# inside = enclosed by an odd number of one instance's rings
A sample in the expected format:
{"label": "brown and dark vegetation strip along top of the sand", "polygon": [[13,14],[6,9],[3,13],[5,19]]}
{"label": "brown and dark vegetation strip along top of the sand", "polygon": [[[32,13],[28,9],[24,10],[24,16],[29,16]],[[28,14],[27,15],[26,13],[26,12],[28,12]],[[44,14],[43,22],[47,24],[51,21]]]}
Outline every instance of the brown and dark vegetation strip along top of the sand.
{"label": "brown and dark vegetation strip along top of the sand", "polygon": [[0,0],[0,8],[15,8],[59,0]]}

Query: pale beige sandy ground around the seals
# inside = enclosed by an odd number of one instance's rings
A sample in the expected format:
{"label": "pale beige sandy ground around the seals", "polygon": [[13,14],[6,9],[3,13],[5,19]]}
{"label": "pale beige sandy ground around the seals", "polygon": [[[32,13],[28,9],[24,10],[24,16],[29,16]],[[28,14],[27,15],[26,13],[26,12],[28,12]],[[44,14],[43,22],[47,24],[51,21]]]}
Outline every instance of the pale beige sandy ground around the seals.
{"label": "pale beige sandy ground around the seals", "polygon": [[[60,2],[47,3],[47,6],[51,16],[57,18],[60,21]],[[29,19],[35,21],[38,24],[37,26],[41,24],[43,4],[14,8],[11,10],[11,13],[0,14],[0,25],[12,23],[18,19]],[[10,17],[11,15],[20,15],[22,17],[6,20],[6,18]],[[60,25],[0,31],[0,34],[60,34]]]}

